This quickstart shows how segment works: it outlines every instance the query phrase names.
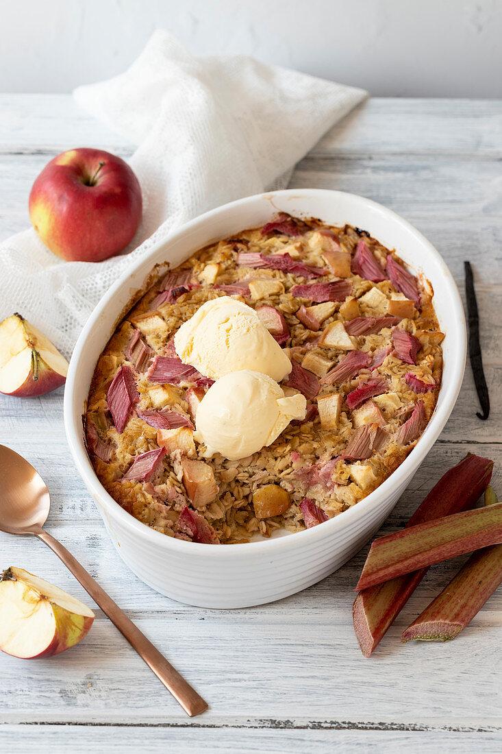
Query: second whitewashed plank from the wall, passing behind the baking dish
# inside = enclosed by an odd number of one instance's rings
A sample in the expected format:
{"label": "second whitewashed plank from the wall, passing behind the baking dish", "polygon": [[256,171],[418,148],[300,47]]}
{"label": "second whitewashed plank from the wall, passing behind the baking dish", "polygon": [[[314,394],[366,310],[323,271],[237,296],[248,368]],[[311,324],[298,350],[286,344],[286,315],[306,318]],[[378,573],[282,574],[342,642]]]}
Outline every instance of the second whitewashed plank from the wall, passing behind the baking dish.
{"label": "second whitewashed plank from the wall, passing behind the baking dish", "polygon": [[[122,156],[124,151],[116,150]],[[0,155],[5,197],[0,240],[29,225],[27,201],[35,177],[57,154]],[[442,160],[426,156],[308,157],[298,164],[291,188],[339,189],[372,198],[421,222],[463,222],[498,227],[502,222],[500,163],[477,158]]]}

